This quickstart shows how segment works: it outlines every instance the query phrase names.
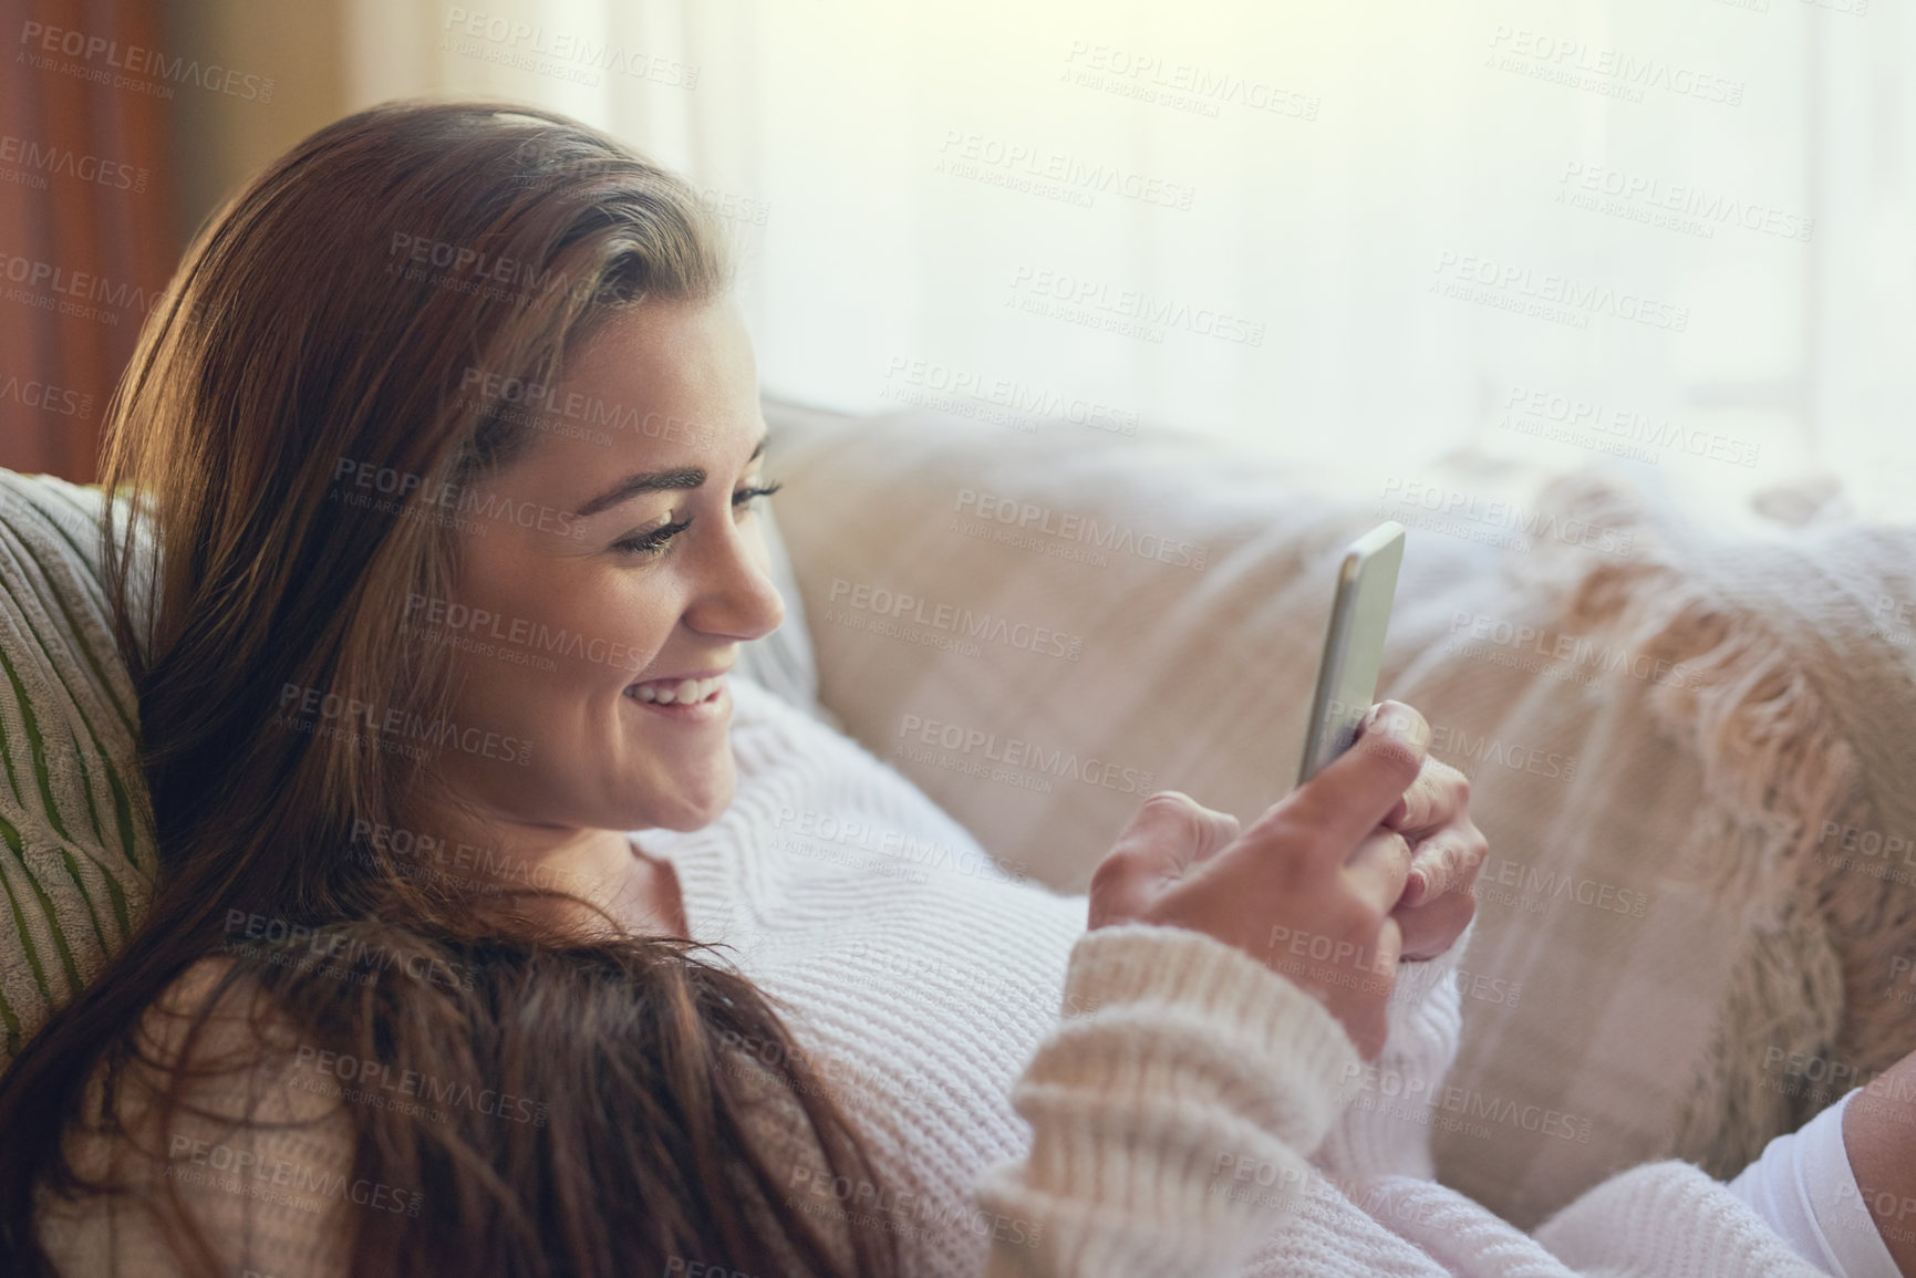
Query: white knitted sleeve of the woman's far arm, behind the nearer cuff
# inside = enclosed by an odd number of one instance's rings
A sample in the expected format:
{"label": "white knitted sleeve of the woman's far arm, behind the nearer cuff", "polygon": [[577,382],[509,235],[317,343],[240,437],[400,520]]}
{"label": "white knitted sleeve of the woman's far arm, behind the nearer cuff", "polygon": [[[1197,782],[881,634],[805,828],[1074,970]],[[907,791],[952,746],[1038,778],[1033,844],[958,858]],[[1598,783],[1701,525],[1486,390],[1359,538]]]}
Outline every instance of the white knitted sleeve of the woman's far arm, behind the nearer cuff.
{"label": "white knitted sleeve of the woman's far arm, behind the nearer cuff", "polygon": [[1420,1176],[1433,1178],[1431,1117],[1443,1102],[1445,1075],[1456,1060],[1464,1025],[1458,970],[1475,933],[1464,935],[1422,962],[1397,964],[1391,991],[1389,1038],[1383,1054],[1358,1073],[1351,1104],[1339,1115],[1316,1163],[1339,1178]]}

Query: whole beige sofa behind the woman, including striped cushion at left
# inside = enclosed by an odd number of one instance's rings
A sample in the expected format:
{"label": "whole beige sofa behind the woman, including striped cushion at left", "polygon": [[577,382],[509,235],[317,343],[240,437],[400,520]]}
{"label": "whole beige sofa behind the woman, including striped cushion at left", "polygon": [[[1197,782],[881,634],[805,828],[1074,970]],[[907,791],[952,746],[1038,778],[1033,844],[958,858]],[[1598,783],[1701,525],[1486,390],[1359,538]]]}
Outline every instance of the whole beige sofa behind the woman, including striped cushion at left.
{"label": "whole beige sofa behind the woman, including striped cushion at left", "polygon": [[[1734,1175],[1916,1050],[1916,535],[1713,535],[1606,468],[1364,491],[1169,423],[764,412],[787,615],[741,671],[1061,893],[1155,789],[1289,789],[1339,550],[1406,523],[1380,696],[1491,843],[1418,1121],[1514,1222],[1646,1159]],[[155,866],[98,510],[0,473],[0,1065]]]}

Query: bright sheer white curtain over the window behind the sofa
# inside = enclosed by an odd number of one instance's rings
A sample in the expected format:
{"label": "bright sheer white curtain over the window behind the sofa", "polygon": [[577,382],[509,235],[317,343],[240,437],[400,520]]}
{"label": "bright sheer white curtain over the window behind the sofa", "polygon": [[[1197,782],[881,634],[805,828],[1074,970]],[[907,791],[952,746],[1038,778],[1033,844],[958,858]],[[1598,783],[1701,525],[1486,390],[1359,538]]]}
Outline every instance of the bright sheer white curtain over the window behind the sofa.
{"label": "bright sheer white curtain over the window behind the sofa", "polygon": [[774,393],[1908,506],[1903,4],[354,4],[353,105],[540,102],[705,188]]}

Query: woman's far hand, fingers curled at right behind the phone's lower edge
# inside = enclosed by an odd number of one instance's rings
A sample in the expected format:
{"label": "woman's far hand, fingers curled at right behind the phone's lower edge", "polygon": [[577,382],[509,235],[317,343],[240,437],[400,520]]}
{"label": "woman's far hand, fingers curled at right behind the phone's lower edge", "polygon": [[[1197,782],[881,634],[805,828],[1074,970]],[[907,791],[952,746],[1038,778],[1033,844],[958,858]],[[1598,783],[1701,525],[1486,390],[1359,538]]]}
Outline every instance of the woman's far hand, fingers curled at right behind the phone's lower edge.
{"label": "woman's far hand, fingers curled at right behind the phone's lower edge", "polygon": [[1426,759],[1403,807],[1385,828],[1410,843],[1410,879],[1391,910],[1404,935],[1404,958],[1437,958],[1477,914],[1477,870],[1491,845],[1470,820],[1470,778],[1448,763]]}

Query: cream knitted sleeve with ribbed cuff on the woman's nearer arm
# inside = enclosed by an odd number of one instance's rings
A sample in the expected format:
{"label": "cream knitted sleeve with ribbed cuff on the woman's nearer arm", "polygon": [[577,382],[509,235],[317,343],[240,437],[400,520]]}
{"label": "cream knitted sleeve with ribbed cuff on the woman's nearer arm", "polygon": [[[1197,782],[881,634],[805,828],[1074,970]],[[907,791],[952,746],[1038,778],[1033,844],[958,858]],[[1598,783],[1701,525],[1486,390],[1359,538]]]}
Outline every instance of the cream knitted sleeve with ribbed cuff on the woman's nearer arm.
{"label": "cream knitted sleeve with ribbed cuff on the woman's nearer arm", "polygon": [[985,1171],[989,1278],[1215,1278],[1303,1205],[1360,1058],[1316,998],[1182,927],[1071,948],[1063,1019],[1012,1088],[1031,1152]]}

